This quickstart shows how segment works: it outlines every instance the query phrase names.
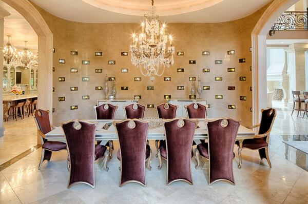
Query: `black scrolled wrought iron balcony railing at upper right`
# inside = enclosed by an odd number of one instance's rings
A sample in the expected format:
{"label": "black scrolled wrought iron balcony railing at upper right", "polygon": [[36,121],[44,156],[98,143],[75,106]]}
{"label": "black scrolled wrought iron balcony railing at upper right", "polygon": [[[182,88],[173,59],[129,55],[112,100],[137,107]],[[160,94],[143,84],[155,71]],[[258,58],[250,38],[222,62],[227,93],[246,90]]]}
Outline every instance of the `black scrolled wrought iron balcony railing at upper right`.
{"label": "black scrolled wrought iron balcony railing at upper right", "polygon": [[269,35],[273,36],[276,30],[308,30],[307,11],[285,11],[272,26]]}

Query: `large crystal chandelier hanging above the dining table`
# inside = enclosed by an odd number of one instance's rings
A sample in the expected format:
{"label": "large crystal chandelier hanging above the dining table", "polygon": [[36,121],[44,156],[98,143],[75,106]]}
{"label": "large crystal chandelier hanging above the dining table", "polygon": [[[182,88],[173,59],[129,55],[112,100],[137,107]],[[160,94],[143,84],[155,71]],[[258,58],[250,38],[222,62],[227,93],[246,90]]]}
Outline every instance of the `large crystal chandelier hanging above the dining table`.
{"label": "large crystal chandelier hanging above the dining table", "polygon": [[165,35],[166,25],[159,21],[158,15],[154,15],[156,8],[154,1],[151,1],[151,16],[144,15],[142,30],[132,35],[129,51],[131,63],[140,68],[143,76],[149,76],[153,81],[155,75],[161,76],[165,67],[174,64],[175,47],[172,46],[172,36]]}

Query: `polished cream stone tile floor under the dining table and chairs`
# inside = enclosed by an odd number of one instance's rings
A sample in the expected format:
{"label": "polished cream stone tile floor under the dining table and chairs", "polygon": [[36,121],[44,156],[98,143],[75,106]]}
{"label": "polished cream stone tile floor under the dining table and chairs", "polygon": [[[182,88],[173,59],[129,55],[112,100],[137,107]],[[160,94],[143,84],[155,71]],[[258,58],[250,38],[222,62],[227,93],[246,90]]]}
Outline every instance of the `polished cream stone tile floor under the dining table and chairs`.
{"label": "polished cream stone tile floor under the dining table and chairs", "polygon": [[[23,123],[25,127],[12,121],[5,124],[9,136],[0,139],[1,158],[6,152],[11,156],[5,158],[16,157],[36,145],[33,118]],[[304,170],[303,158],[297,161],[297,150],[282,143],[282,140],[305,138],[298,135],[307,133],[307,123],[308,119],[290,117],[290,112],[278,110],[270,141],[273,168],[265,160],[260,161],[257,151],[244,149],[241,170],[237,168],[237,155],[234,160],[236,186],[225,182],[209,186],[206,161],[199,170],[193,168],[192,161],[194,185],[175,182],[166,186],[166,164],[159,171],[154,156],[152,170],[146,171],[147,187],[129,183],[120,188],[115,144],[114,157],[107,163],[109,171],[95,171],[95,189],[86,185],[67,189],[66,151],[54,153],[39,171],[41,149],[37,149],[0,172],[0,203],[308,203],[308,172]],[[17,153],[15,146],[20,149]],[[152,142],[151,148],[155,154]]]}

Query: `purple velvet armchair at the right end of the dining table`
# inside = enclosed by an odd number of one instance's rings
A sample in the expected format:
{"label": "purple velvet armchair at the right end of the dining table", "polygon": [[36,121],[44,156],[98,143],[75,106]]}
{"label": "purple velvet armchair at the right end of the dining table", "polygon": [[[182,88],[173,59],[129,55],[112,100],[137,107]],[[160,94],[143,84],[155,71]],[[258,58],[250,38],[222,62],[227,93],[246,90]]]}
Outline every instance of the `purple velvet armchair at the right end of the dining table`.
{"label": "purple velvet armchair at the right end of the dining table", "polygon": [[254,129],[259,127],[259,133],[253,139],[244,139],[236,141],[236,144],[239,146],[238,153],[240,158],[240,165],[242,165],[242,148],[248,148],[251,150],[258,150],[261,159],[266,159],[268,166],[272,168],[271,161],[268,156],[268,139],[269,134],[272,131],[274,120],[276,117],[276,110],[273,108],[262,109],[261,110],[261,123],[255,126],[247,127],[249,129]]}

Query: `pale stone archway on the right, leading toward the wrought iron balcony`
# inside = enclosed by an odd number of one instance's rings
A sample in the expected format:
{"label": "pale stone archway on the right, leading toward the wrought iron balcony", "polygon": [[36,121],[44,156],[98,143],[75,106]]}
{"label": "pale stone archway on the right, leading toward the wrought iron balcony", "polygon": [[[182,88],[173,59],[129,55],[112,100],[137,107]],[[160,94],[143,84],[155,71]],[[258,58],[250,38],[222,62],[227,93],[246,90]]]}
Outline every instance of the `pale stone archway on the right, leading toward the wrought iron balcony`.
{"label": "pale stone archway on the right, leading toward the wrought iron balcony", "polygon": [[252,32],[253,124],[259,123],[260,110],[266,108],[266,35],[277,18],[298,0],[274,0]]}

